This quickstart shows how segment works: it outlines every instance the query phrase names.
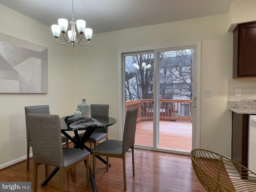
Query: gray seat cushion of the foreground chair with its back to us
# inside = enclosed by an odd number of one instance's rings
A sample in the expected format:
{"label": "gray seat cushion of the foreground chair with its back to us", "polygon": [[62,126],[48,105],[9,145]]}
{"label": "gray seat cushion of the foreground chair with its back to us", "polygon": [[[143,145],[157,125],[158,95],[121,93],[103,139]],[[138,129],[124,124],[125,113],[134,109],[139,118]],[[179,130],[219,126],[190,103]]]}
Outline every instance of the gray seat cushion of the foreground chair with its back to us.
{"label": "gray seat cushion of the foreground chair with its back to us", "polygon": [[90,152],[85,150],[64,147],[63,148],[64,167],[68,167],[90,154],[91,154]]}

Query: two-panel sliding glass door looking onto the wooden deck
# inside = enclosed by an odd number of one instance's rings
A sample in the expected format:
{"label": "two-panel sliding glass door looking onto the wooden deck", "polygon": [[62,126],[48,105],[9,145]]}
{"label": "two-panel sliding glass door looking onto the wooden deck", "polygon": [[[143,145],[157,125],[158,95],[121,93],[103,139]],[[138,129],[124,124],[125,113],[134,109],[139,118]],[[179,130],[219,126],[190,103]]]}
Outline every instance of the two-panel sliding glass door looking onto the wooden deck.
{"label": "two-panel sliding glass door looking onto the wooden deck", "polygon": [[193,148],[195,52],[196,45],[122,53],[124,111],[140,111],[136,148],[181,154]]}

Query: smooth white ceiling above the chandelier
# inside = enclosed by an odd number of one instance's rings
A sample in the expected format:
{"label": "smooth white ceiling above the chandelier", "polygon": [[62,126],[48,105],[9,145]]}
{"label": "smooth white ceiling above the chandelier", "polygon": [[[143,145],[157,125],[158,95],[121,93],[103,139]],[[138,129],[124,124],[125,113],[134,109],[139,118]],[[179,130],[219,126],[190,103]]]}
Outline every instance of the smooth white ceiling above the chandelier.
{"label": "smooth white ceiling above the chandelier", "polygon": [[[227,13],[234,0],[74,0],[74,18],[93,34]],[[0,0],[51,26],[71,17],[71,0]]]}

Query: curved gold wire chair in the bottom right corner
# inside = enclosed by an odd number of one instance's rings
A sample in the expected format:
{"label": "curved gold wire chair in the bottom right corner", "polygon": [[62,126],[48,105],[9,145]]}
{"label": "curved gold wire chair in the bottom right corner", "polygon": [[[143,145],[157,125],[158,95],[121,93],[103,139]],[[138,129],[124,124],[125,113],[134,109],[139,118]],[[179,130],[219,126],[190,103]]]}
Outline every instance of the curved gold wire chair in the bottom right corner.
{"label": "curved gold wire chair in the bottom right corner", "polygon": [[215,152],[190,152],[196,176],[208,192],[256,192],[256,174]]}

